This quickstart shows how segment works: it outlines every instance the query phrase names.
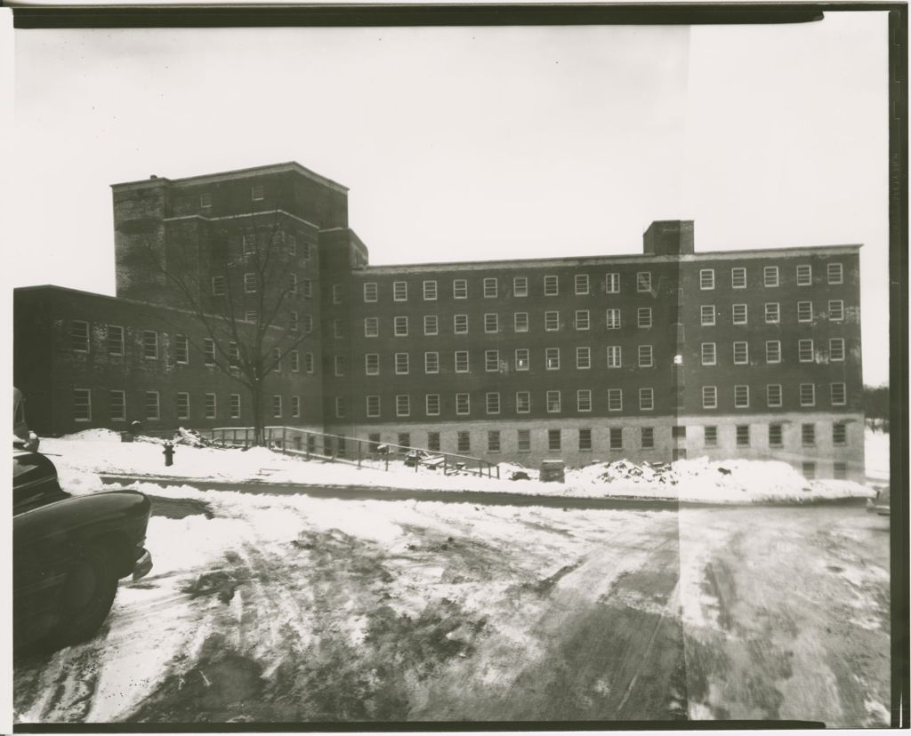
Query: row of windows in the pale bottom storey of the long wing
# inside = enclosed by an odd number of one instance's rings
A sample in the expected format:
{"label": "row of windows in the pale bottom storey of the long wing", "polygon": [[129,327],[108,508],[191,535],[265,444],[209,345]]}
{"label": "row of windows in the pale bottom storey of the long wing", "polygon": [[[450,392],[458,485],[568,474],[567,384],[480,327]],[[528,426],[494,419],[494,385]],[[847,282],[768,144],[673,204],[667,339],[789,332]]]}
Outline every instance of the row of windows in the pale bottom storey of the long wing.
{"label": "row of windows in the pale bottom storey of the long wing", "polygon": [[[686,427],[672,427],[672,436],[675,438],[685,438],[686,437]],[[707,449],[717,448],[718,447],[718,428],[714,426],[706,426],[702,428],[703,430],[703,446]],[[751,427],[748,424],[735,425],[735,437],[738,448],[748,448],[753,444]],[[516,436],[516,446],[519,452],[530,452],[532,449],[532,434],[530,429],[517,429]],[[547,439],[548,439],[548,451],[558,452],[563,449],[568,449],[564,447],[564,437],[568,430],[563,429],[548,429],[547,430]],[[575,449],[580,451],[587,451],[595,449],[592,443],[592,430],[590,428],[579,428],[577,432],[577,445]],[[627,438],[631,439],[630,435],[632,432],[628,430]],[[623,441],[623,428],[621,427],[610,427],[608,428],[608,445],[606,449],[654,449],[655,448],[655,428],[653,427],[640,427],[638,430],[639,434],[639,447],[633,448],[630,446],[624,447]],[[486,431],[486,451],[489,453],[497,453],[501,451],[502,448],[502,435],[503,432],[500,429],[488,429]],[[372,433],[368,435],[369,441],[372,443],[371,451],[375,451],[375,447],[380,444],[380,435],[378,433]],[[397,443],[400,447],[409,448],[411,447],[411,433],[410,432],[399,432],[397,435]],[[460,453],[471,452],[471,433],[468,431],[458,431],[455,433],[455,451]],[[783,425],[781,424],[770,424],[768,425],[768,446],[770,448],[783,448]],[[801,444],[804,447],[815,447],[816,446],[816,425],[812,423],[802,424],[801,425]],[[832,444],[835,447],[846,447],[847,446],[847,427],[844,422],[835,422],[832,425]],[[439,432],[428,432],[427,433],[427,443],[426,448],[434,451],[441,451],[440,444],[440,433]],[[681,453],[682,454],[682,453]],[[843,475],[841,477],[845,478],[847,476],[847,464],[841,463],[841,470]],[[835,462],[835,475],[839,477],[839,462]]]}

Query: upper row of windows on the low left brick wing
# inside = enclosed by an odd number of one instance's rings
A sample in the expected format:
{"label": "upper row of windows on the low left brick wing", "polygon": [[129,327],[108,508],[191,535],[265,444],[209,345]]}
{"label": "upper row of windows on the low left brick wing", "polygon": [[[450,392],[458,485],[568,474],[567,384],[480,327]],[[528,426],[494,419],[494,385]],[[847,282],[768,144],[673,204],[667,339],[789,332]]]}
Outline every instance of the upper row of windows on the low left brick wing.
{"label": "upper row of windows on the low left brick wing", "polygon": [[[309,317],[309,315],[308,315]],[[255,319],[255,316],[254,316]],[[70,321],[69,344],[70,348],[77,353],[87,353],[90,347],[90,332],[88,322],[81,319]],[[125,333],[124,328],[120,325],[107,325],[105,344],[107,354],[111,356],[123,356],[125,354]],[[157,360],[160,357],[159,333],[153,329],[142,331],[141,337],[142,357],[149,360]],[[173,340],[174,362],[181,365],[189,364],[189,338],[186,335],[175,335]],[[216,346],[215,341],[211,338],[202,340],[202,362],[206,366],[215,365]],[[228,344],[228,357],[231,366],[238,365],[240,361],[240,348],[235,342]],[[291,370],[297,373],[301,370],[301,354],[298,350],[289,350],[281,353],[280,348],[272,351],[272,358],[276,361],[273,370],[281,372],[281,361],[287,358]],[[306,373],[313,372],[313,354],[303,354],[303,370]]]}

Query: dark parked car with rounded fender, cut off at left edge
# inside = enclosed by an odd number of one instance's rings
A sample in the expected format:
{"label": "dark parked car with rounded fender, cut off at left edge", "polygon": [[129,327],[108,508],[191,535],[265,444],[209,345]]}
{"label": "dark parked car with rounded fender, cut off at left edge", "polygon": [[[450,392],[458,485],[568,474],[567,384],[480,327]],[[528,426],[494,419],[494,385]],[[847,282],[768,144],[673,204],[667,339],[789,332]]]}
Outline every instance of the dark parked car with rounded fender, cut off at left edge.
{"label": "dark parked car with rounded fender, cut off at left edge", "polygon": [[93,636],[118,580],[152,568],[151,509],[135,490],[71,496],[38,452],[13,451],[13,638],[60,647]]}

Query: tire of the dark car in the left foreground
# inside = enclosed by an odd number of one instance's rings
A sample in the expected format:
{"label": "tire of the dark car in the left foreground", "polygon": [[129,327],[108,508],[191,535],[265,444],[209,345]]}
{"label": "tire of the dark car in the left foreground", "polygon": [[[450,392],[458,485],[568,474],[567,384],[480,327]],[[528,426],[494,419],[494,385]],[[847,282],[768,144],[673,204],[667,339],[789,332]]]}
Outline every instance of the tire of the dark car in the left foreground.
{"label": "tire of the dark car in the left foreground", "polygon": [[77,548],[60,589],[60,623],[51,639],[67,645],[97,633],[117,595],[118,575],[111,550]]}

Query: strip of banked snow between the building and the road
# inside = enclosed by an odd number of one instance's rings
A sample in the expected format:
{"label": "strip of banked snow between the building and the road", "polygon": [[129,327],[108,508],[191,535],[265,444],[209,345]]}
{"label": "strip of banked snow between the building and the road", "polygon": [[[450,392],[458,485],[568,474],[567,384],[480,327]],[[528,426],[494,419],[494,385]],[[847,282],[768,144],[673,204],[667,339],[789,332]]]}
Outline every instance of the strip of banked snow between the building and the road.
{"label": "strip of banked snow between the building and the road", "polygon": [[[885,438],[885,440],[884,440]],[[42,439],[41,449],[54,457],[64,487],[73,493],[97,489],[96,474],[168,476],[227,482],[273,482],[315,486],[440,489],[523,493],[574,498],[679,499],[712,503],[761,503],[818,499],[869,498],[874,491],[847,480],[807,480],[787,463],[772,460],[679,460],[672,465],[626,460],[596,462],[568,469],[566,482],[543,483],[529,470],[529,480],[507,479],[517,466],[501,465],[501,478],[407,468],[392,460],[389,470],[357,468],[341,462],[307,461],[265,448],[216,449],[178,445],[174,465],[166,468],[163,440],[120,442],[116,432],[88,429],[59,439]],[[888,479],[888,435],[867,429],[867,467],[871,479]],[[885,475],[884,475],[885,473]]]}

